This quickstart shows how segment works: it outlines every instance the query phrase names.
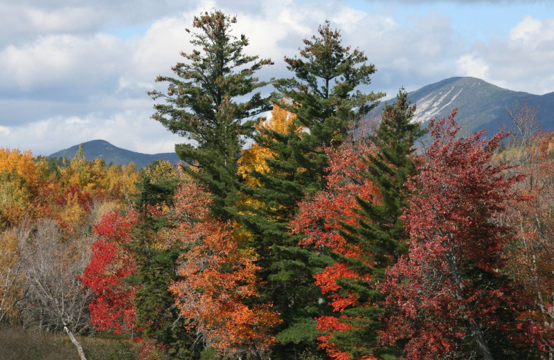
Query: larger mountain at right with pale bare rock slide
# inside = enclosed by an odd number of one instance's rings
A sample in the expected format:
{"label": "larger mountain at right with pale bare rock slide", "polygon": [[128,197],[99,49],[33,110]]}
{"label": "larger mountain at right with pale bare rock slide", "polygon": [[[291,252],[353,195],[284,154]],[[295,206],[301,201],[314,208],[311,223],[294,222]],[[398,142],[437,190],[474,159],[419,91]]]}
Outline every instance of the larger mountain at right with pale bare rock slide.
{"label": "larger mountain at right with pale bare rock slide", "polygon": [[[450,115],[452,108],[458,108],[456,120],[460,123],[461,134],[472,134],[485,129],[498,132],[511,129],[512,119],[507,109],[515,104],[520,106],[528,101],[538,108],[537,118],[544,129],[554,129],[554,93],[533,95],[522,91],[502,89],[477,78],[449,78],[408,93],[416,105],[414,121],[427,123],[431,118]],[[396,98],[384,102],[394,102]],[[369,116],[379,116],[384,102],[370,111]]]}

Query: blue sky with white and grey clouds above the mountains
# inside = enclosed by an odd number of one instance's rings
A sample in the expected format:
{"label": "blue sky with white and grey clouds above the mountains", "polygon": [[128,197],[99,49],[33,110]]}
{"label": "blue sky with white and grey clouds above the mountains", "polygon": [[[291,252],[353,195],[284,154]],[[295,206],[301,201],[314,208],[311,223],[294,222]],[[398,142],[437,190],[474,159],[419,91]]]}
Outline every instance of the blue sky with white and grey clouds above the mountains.
{"label": "blue sky with white and grey clouds above the mountains", "polygon": [[147,91],[164,89],[154,79],[174,75],[193,48],[185,28],[212,9],[236,15],[246,53],[275,62],[260,80],[291,77],[283,57],[327,19],[377,68],[362,91],[392,98],[453,76],[554,91],[551,0],[0,0],[0,147],[172,152],[185,139],[150,118]]}

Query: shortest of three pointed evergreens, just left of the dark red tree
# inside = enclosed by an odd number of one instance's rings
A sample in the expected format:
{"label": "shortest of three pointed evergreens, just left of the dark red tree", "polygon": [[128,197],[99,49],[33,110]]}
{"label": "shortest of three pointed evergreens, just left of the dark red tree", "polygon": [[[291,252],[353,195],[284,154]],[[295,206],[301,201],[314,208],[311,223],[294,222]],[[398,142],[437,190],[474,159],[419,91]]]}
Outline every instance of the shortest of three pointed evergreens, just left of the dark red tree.
{"label": "shortest of three pointed evergreens, just left of the dark red tree", "polygon": [[[413,144],[427,132],[427,129],[421,129],[419,123],[411,122],[414,111],[415,105],[410,105],[406,91],[400,89],[396,102],[384,106],[375,135],[368,136],[368,141],[375,145],[377,151],[368,156],[365,176],[379,188],[380,197],[370,201],[358,198],[360,219],[357,226],[342,224],[347,231],[341,231],[349,244],[361,249],[365,261],[332,255],[337,261],[348,263],[348,267],[357,273],[369,274],[373,278],[370,283],[338,280],[343,291],[355,294],[359,297],[359,304],[364,305],[341,312],[344,316],[341,321],[350,328],[336,332],[328,342],[355,357],[371,354],[381,359],[392,359],[401,354],[397,348],[378,346],[379,336],[384,330],[380,321],[383,309],[378,304],[384,295],[375,284],[384,278],[385,270],[407,251],[408,235],[399,217],[410,199],[405,183],[410,175],[415,174]],[[373,263],[373,266],[369,267],[368,263]]]}

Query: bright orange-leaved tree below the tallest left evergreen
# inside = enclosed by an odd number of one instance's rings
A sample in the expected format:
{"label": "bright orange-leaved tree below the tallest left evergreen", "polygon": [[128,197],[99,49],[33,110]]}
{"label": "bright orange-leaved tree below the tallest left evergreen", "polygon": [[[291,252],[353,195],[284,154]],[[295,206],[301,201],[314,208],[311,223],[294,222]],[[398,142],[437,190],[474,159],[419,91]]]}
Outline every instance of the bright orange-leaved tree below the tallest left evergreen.
{"label": "bright orange-leaved tree below the tallest left evergreen", "polygon": [[208,192],[194,182],[175,195],[167,240],[181,244],[179,280],[172,282],[181,316],[199,338],[223,355],[248,354],[261,359],[274,338],[269,334],[279,322],[271,305],[247,305],[257,296],[259,267],[251,249],[233,235],[229,223],[214,219]]}

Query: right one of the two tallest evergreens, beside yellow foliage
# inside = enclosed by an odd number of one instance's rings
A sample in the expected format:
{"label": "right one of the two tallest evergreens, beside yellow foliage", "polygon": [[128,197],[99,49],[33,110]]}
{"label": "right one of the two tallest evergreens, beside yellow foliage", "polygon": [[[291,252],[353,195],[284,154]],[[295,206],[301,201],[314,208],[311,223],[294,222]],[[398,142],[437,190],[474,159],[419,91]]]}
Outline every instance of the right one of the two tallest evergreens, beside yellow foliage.
{"label": "right one of the two tallest evergreens, beside yellow foliage", "polygon": [[295,78],[275,83],[279,106],[296,118],[289,132],[265,129],[255,136],[258,145],[271,150],[269,171],[254,172],[259,185],[243,188],[256,200],[255,207],[244,209],[242,223],[260,255],[264,300],[271,300],[283,318],[276,330],[281,344],[274,352],[276,359],[291,359],[298,348],[316,348],[320,333],[314,317],[328,309],[313,276],[332,259],[299,246],[300,237],[289,234],[289,222],[298,202],[324,186],[325,147],[340,145],[350,126],[383,96],[356,89],[370,83],[375,66],[366,64],[367,57],[357,48],[351,51],[341,45],[339,31],[332,30],[328,21],[304,44],[300,57],[285,57]]}

